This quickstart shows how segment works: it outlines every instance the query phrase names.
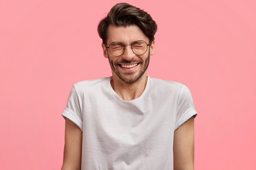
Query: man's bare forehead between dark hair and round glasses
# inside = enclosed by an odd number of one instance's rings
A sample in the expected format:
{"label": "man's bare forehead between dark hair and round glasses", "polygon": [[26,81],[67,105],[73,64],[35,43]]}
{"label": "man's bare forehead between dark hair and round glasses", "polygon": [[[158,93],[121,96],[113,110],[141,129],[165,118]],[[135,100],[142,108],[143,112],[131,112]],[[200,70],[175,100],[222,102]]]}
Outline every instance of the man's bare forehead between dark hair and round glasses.
{"label": "man's bare forehead between dark hair and round glasses", "polygon": [[144,40],[149,43],[148,37],[137,25],[130,25],[126,27],[109,25],[108,27],[107,44],[115,41],[129,44],[137,40]]}

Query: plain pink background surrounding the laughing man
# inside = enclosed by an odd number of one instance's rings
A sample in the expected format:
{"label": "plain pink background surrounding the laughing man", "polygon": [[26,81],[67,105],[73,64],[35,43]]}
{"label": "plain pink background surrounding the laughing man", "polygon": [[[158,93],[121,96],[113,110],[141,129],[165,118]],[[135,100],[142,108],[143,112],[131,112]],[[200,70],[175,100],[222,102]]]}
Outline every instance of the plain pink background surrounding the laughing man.
{"label": "plain pink background surrounding the laughing man", "polygon": [[[97,24],[118,2],[1,0],[1,170],[61,169],[61,113],[75,82],[111,75]],[[191,91],[195,170],[255,170],[256,2],[126,2],[159,27],[148,75]]]}

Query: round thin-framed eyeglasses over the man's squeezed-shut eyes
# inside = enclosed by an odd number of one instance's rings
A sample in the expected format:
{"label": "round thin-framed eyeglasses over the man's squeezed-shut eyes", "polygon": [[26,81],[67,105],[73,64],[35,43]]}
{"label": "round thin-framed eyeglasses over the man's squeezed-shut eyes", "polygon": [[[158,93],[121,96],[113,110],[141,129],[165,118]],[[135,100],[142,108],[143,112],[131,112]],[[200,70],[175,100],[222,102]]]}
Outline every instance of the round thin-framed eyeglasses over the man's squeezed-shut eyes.
{"label": "round thin-framed eyeglasses over the man's squeezed-shut eyes", "polygon": [[146,51],[148,50],[148,46],[149,44],[147,44],[145,41],[143,40],[138,40],[135,42],[132,42],[132,44],[126,44],[124,45],[121,42],[112,42],[109,46],[105,46],[108,48],[110,54],[114,55],[114,56],[120,56],[124,53],[125,51],[125,46],[130,45],[132,48],[133,53],[137,54],[137,55],[142,55],[144,53],[146,53]]}

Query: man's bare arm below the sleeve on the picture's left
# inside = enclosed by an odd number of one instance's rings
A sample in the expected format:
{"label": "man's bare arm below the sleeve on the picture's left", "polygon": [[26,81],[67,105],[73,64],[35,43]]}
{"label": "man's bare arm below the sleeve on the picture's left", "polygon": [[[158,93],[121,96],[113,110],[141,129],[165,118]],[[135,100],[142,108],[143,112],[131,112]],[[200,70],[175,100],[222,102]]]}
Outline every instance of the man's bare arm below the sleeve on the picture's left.
{"label": "man's bare arm below the sleeve on the picture's left", "polygon": [[81,170],[82,139],[81,129],[65,118],[65,146],[61,170]]}

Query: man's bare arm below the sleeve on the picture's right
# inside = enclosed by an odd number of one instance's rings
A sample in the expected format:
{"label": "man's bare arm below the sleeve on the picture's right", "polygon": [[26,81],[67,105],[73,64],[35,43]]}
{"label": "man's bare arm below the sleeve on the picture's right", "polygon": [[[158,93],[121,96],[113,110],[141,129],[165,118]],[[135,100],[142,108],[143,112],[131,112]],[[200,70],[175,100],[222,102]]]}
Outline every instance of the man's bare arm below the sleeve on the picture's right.
{"label": "man's bare arm below the sleeve on the picture's right", "polygon": [[174,132],[174,170],[194,170],[194,116]]}

